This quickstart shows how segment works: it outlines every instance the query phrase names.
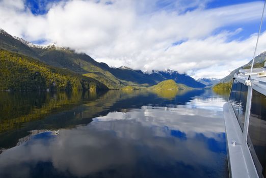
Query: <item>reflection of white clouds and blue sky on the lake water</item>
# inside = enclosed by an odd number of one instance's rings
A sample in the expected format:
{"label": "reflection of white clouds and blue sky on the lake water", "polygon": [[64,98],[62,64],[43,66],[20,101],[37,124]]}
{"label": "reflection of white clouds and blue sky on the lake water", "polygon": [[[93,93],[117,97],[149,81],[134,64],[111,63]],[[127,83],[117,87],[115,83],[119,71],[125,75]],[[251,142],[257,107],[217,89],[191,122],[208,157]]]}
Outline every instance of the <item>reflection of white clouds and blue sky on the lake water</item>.
{"label": "reflection of white clouds and blue sky on the lake water", "polygon": [[222,112],[198,98],[34,135],[0,155],[0,177],[226,177]]}

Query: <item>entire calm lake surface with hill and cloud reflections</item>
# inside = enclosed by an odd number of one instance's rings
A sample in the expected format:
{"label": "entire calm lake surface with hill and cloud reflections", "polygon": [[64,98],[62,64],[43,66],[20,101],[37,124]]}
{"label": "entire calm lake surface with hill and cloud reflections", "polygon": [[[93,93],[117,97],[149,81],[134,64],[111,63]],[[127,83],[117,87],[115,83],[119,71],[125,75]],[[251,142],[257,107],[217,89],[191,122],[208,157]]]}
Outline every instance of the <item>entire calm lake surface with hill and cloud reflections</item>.
{"label": "entire calm lake surface with hill and cloud reflections", "polygon": [[228,93],[0,92],[0,177],[228,177]]}

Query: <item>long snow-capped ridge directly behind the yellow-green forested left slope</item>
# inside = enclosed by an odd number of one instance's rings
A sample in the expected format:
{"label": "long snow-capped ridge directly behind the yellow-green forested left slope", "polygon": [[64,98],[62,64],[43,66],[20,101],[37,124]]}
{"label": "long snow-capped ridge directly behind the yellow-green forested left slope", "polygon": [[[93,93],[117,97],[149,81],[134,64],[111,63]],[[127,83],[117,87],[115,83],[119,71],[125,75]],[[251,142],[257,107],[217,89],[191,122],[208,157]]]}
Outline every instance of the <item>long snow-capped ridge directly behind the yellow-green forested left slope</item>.
{"label": "long snow-capped ridge directly behind the yellow-green forested left slope", "polygon": [[68,69],[78,74],[87,74],[87,77],[95,78],[111,89],[125,86],[123,82],[111,74],[109,66],[98,63],[84,53],[75,53],[74,50],[58,47],[55,44],[40,46],[33,45],[21,38],[13,37],[0,29],[0,49],[23,54],[45,64],[57,68]]}

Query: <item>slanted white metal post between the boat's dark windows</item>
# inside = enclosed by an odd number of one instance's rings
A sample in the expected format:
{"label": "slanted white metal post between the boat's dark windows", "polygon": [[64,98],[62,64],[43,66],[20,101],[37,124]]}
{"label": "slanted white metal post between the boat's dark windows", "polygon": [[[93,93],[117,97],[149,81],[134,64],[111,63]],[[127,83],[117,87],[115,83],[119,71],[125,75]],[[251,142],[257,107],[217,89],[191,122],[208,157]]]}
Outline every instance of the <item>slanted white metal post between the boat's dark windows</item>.
{"label": "slanted white metal post between the boat's dark windows", "polygon": [[248,87],[248,96],[247,96],[247,104],[246,104],[246,111],[245,111],[245,123],[244,123],[242,143],[246,143],[247,138],[248,138],[251,99],[252,99],[252,84],[251,86]]}

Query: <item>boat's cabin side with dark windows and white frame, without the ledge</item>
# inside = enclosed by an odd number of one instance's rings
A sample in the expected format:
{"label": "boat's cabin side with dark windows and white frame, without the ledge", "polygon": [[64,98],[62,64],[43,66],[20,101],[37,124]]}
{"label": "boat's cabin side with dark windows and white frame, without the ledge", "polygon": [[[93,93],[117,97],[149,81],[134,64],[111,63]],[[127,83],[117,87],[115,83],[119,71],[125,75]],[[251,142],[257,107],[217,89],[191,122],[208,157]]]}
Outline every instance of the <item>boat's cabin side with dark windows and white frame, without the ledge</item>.
{"label": "boat's cabin side with dark windows and white frame, without the ledge", "polygon": [[[242,151],[247,168],[256,167],[266,177],[266,82],[252,75],[234,75],[229,103],[241,128]],[[253,163],[248,161],[252,158]],[[252,165],[251,165],[252,164]],[[252,172],[252,170],[250,170]],[[249,171],[249,172],[250,172]]]}

